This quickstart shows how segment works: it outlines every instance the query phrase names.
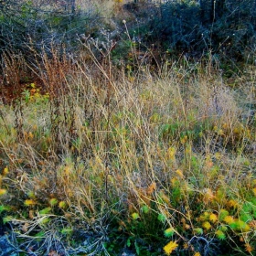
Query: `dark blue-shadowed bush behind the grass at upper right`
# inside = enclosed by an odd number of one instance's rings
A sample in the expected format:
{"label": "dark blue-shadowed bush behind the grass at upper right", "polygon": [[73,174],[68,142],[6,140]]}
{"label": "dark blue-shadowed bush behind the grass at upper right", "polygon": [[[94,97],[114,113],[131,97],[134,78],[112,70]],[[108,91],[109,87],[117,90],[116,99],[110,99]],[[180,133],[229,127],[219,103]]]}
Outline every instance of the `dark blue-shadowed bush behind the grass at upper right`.
{"label": "dark blue-shadowed bush behind the grass at upper right", "polygon": [[141,12],[150,8],[149,16],[140,19],[135,30],[148,46],[160,45],[169,52],[193,56],[211,52],[241,61],[247,58],[248,48],[255,51],[254,5],[252,0],[175,0],[143,5]]}

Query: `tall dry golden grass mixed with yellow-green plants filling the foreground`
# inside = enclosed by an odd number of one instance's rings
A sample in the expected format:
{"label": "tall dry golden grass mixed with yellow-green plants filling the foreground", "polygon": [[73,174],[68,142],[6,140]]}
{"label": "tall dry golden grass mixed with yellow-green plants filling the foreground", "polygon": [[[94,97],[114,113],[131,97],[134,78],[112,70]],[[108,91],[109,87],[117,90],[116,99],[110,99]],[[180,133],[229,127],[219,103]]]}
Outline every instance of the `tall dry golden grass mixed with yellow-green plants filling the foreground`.
{"label": "tall dry golden grass mixed with yellow-green plants filling the foreground", "polygon": [[146,70],[56,53],[40,74],[48,94],[1,104],[1,215],[23,251],[114,255],[128,239],[159,255],[172,229],[187,255],[221,242],[253,254],[255,115],[240,102],[255,101],[255,72],[238,92],[215,67]]}

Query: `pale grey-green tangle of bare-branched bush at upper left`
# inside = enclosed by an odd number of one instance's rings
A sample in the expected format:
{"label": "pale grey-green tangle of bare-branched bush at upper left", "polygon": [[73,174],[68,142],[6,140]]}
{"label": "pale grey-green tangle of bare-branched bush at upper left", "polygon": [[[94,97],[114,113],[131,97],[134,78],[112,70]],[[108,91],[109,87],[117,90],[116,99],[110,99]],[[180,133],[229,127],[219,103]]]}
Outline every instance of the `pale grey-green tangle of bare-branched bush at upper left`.
{"label": "pale grey-green tangle of bare-branched bush at upper left", "polygon": [[91,33],[98,23],[99,14],[93,5],[82,11],[76,5],[1,2],[0,55],[5,51],[22,53],[32,61],[42,49],[50,54],[53,45],[71,52],[78,48],[79,35]]}

